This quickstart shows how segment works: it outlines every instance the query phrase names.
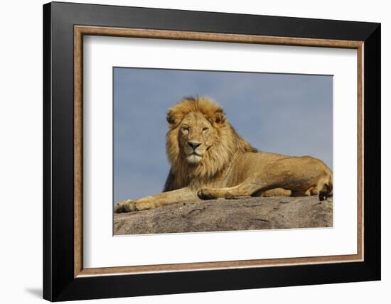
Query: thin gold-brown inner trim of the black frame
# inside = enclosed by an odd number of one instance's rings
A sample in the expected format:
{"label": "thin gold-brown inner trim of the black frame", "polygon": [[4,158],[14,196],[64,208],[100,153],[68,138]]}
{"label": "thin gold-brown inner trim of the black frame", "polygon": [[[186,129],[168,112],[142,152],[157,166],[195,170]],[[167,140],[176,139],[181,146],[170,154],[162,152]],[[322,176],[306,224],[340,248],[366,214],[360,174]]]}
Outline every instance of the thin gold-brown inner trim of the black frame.
{"label": "thin gold-brown inner trim of the black frame", "polygon": [[[121,266],[105,268],[83,268],[82,262],[82,37],[121,36],[129,38],[155,38],[173,40],[200,40],[230,43],[257,43],[272,45],[298,45],[325,48],[352,48],[357,50],[358,65],[358,248],[357,254],[338,256],[309,256],[286,259],[255,259],[245,261],[217,261],[186,264],[163,264],[145,266]],[[325,264],[363,261],[363,41],[327,40],[311,38],[289,38],[227,33],[200,33],[189,31],[162,31],[139,28],[110,28],[98,26],[74,26],[74,276],[101,276],[132,273],[154,273],[167,271],[193,271],[218,268],[247,268],[262,266],[287,266],[300,264]]]}

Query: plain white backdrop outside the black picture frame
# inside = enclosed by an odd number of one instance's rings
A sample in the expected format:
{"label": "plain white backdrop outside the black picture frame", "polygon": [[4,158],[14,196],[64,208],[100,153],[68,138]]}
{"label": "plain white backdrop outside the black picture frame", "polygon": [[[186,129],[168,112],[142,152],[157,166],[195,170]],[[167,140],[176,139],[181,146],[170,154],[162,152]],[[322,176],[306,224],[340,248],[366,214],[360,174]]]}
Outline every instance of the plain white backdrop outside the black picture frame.
{"label": "plain white backdrop outside the black picture frame", "polygon": [[[75,1],[78,2],[78,1]],[[90,1],[173,9],[382,22],[382,281],[100,300],[100,303],[387,303],[391,286],[390,9],[387,1]],[[1,22],[0,286],[2,303],[41,301],[42,7],[4,1]],[[386,85],[388,85],[386,87]],[[388,197],[387,197],[388,198]],[[389,201],[389,198],[388,198]],[[89,303],[98,303],[98,300]]]}

